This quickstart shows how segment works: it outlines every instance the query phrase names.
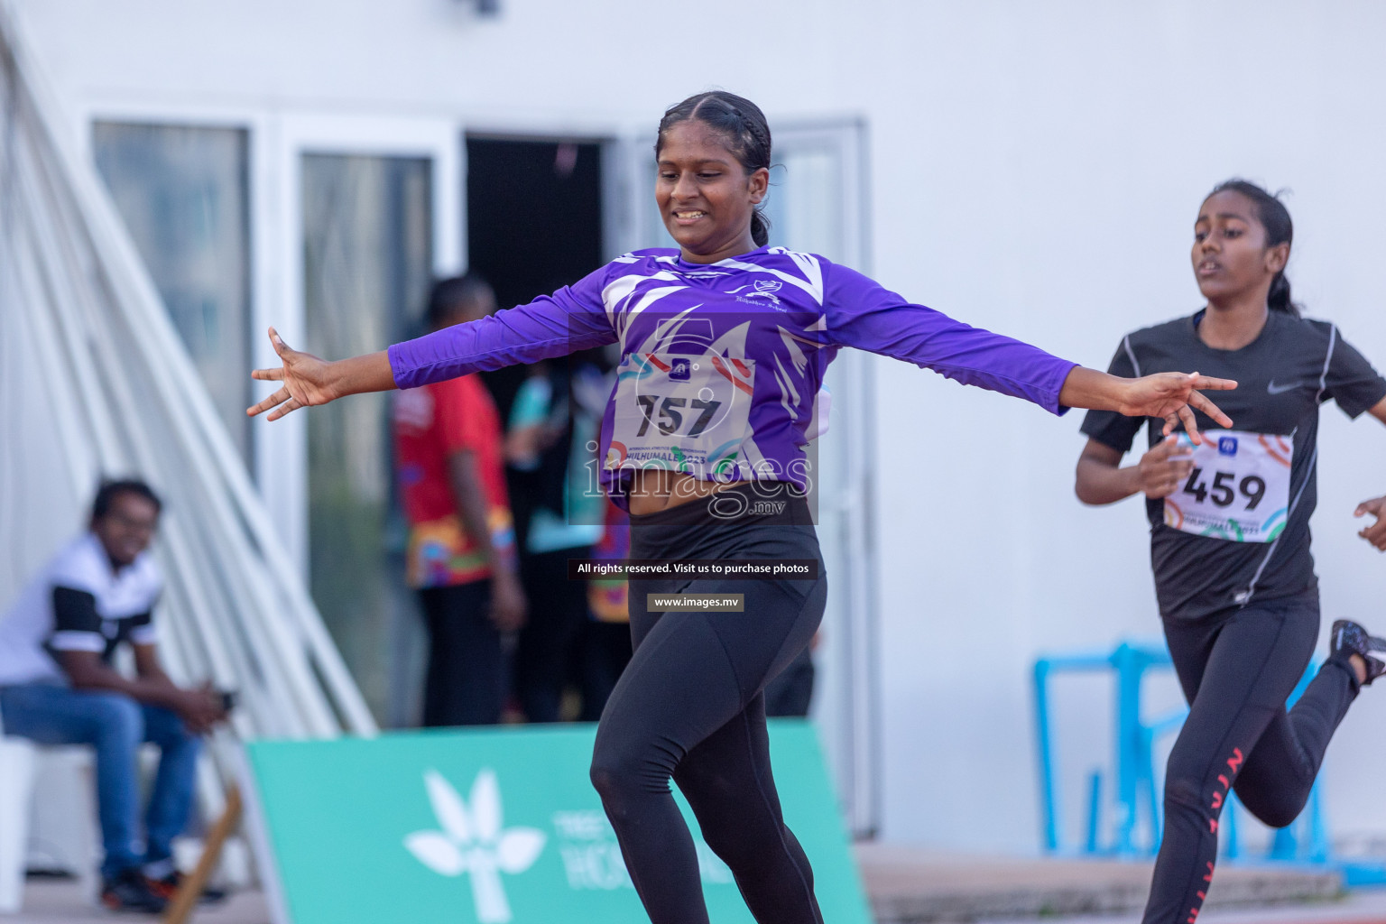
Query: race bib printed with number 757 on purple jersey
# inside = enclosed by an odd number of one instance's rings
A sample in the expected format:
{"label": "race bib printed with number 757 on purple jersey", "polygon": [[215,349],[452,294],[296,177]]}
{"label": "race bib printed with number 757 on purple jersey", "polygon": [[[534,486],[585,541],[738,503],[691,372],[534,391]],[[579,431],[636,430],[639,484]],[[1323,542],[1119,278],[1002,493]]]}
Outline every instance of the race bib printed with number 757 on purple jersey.
{"label": "race bib printed with number 757 on purple jersey", "polygon": [[754,387],[755,363],[748,359],[626,355],[617,370],[606,467],[736,475]]}

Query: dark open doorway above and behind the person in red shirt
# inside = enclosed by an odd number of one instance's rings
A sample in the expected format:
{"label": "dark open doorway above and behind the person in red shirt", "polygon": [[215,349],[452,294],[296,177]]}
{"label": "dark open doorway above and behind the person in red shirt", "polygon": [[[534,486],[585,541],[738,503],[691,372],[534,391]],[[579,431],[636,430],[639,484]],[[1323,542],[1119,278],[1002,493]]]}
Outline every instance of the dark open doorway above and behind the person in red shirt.
{"label": "dark open doorway above and behind the person in red shirt", "polygon": [[[602,145],[467,136],[467,265],[523,305],[602,265]],[[486,374],[506,420],[523,367]]]}

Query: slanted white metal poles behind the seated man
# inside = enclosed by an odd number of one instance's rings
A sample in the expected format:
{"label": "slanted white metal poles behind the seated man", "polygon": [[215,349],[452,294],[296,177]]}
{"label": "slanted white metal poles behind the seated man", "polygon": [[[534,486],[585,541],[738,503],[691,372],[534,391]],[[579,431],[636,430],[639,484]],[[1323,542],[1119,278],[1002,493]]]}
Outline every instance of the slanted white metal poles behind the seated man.
{"label": "slanted white metal poles behind the seated man", "polygon": [[[65,126],[0,3],[0,605],[82,526],[100,477],[139,475],[166,500],[155,553],[170,675],[240,693],[233,734],[211,748],[215,769],[233,772],[234,738],[374,733]],[[211,812],[213,783],[202,787]]]}

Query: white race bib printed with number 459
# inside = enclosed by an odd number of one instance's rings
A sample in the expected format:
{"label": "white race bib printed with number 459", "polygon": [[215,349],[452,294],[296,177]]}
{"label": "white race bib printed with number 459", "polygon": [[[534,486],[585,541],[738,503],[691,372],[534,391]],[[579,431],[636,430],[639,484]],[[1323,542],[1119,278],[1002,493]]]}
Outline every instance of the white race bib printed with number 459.
{"label": "white race bib printed with number 459", "polygon": [[1213,429],[1195,446],[1179,434],[1178,454],[1192,456],[1193,470],[1164,499],[1166,525],[1229,542],[1274,542],[1285,529],[1290,436]]}

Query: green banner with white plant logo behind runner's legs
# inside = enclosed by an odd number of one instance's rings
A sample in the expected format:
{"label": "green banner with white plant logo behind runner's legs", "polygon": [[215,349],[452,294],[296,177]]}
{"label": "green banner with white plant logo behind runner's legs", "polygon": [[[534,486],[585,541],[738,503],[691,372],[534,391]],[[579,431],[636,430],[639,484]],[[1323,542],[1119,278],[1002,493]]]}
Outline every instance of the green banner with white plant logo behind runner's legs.
{"label": "green banner with white plant logo behind runner's legs", "polygon": [[[588,781],[595,726],[456,729],[247,745],[276,924],[646,924]],[[823,920],[869,924],[816,734],[771,722],[784,820]],[[678,790],[675,788],[675,792]],[[679,806],[697,833],[687,803]],[[718,924],[754,924],[699,838]]]}

